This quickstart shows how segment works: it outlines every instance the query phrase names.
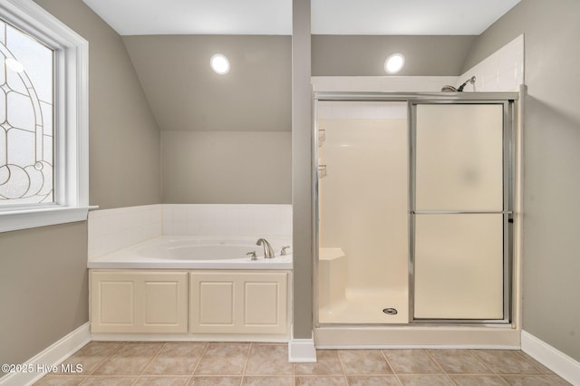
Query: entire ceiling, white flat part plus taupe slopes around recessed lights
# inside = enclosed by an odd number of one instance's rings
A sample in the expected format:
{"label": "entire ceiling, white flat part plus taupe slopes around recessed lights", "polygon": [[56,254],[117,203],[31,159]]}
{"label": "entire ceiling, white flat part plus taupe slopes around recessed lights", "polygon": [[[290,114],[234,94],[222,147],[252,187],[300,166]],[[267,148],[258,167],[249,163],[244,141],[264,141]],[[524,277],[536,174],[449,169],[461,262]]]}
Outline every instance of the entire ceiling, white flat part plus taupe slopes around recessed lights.
{"label": "entire ceiling, white flat part plus taupe slopes around recessed lights", "polygon": [[[292,0],[83,1],[123,35],[160,130],[291,130]],[[475,35],[517,3],[312,1],[313,74],[362,76],[384,75],[392,52],[407,58],[398,75],[459,75]]]}

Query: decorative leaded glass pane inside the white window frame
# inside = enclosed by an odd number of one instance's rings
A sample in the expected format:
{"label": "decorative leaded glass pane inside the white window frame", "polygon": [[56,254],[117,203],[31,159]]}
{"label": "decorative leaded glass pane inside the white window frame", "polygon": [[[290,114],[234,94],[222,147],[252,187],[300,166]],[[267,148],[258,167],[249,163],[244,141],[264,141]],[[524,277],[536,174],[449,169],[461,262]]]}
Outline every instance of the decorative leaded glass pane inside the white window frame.
{"label": "decorative leaded glass pane inside the white window frame", "polygon": [[0,205],[54,200],[53,55],[0,20]]}

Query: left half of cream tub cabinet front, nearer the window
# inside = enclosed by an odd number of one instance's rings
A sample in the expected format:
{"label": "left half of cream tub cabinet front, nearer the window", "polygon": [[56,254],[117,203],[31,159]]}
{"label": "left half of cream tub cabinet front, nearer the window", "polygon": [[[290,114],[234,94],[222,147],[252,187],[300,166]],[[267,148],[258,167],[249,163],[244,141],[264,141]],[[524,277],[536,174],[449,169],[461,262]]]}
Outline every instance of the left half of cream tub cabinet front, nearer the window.
{"label": "left half of cream tub cabinet front, nearer the window", "polygon": [[92,333],[187,333],[188,273],[95,271]]}

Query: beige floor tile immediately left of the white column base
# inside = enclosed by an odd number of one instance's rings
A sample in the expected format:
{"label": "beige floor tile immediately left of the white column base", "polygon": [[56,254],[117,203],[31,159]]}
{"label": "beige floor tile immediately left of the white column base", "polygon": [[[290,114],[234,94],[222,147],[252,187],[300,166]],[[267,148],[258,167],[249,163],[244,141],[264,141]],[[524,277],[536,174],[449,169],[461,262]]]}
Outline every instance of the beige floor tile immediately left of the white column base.
{"label": "beige floor tile immediately left of the white column base", "polygon": [[246,373],[251,375],[293,375],[285,344],[253,344],[247,358]]}

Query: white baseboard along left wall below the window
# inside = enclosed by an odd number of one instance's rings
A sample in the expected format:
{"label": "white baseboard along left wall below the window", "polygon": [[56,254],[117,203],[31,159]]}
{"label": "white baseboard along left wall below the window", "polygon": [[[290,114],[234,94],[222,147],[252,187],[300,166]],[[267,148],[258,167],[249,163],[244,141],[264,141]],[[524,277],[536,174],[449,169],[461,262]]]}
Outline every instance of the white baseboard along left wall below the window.
{"label": "white baseboard along left wall below the window", "polygon": [[[91,323],[87,322],[22,363],[33,372],[8,373],[0,378],[0,386],[32,385],[46,375],[48,369],[63,362],[89,342],[91,342]],[[46,370],[43,372],[43,369]]]}

